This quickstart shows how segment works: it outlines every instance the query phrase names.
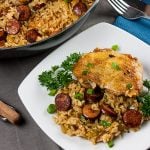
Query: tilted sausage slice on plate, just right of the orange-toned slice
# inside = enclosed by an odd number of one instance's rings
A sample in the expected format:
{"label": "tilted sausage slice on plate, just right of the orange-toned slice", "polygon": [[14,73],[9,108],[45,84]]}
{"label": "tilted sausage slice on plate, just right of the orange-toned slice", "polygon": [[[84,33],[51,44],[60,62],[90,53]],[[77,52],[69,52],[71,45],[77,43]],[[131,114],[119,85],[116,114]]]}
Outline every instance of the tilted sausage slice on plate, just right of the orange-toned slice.
{"label": "tilted sausage slice on plate, just right of the orange-toned slice", "polygon": [[116,116],[116,112],[107,104],[102,104],[102,113],[110,115],[110,116]]}

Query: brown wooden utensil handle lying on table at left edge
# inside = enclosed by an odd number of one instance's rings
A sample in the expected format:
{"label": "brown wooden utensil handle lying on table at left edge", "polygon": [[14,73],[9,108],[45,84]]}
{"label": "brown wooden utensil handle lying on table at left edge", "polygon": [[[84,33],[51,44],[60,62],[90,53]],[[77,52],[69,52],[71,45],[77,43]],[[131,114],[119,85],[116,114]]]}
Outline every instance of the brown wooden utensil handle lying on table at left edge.
{"label": "brown wooden utensil handle lying on table at left edge", "polygon": [[0,101],[0,116],[7,118],[12,124],[18,124],[21,116],[12,107]]}

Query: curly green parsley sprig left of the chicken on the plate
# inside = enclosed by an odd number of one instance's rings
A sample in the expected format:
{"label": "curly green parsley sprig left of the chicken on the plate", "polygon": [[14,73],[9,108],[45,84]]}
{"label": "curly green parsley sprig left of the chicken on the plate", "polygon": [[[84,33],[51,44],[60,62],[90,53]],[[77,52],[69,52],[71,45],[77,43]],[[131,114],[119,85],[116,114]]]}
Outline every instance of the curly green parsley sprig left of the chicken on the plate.
{"label": "curly green parsley sprig left of the chicken on the plate", "polygon": [[60,66],[52,66],[51,70],[44,71],[39,75],[38,79],[41,85],[50,91],[49,95],[54,96],[58,89],[67,86],[73,81],[72,69],[80,57],[80,53],[73,53]]}

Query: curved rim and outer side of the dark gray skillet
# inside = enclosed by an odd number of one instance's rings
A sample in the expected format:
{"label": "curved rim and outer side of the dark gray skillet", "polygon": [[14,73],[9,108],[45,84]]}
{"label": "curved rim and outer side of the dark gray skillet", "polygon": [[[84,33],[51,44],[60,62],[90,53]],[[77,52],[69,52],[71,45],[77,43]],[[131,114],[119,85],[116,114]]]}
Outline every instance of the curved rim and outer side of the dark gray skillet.
{"label": "curved rim and outer side of the dark gray skillet", "polygon": [[94,11],[98,2],[99,0],[96,0],[94,4],[89,8],[89,10],[83,16],[80,17],[79,20],[77,20],[71,26],[65,28],[57,35],[54,35],[53,37],[25,46],[0,48],[0,59],[29,56],[46,51],[54,46],[61,44],[62,42],[66,41],[71,36],[73,36],[80,29],[80,27],[85,23],[89,15]]}

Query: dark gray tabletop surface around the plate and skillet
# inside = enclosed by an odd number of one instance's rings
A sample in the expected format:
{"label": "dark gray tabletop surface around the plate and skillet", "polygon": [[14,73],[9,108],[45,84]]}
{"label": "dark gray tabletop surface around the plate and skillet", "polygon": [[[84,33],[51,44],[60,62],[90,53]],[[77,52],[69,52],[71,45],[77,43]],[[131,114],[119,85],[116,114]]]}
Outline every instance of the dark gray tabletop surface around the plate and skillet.
{"label": "dark gray tabletop surface around the plate and skillet", "polygon": [[[99,22],[112,23],[114,18],[115,12],[106,0],[101,0],[81,31]],[[0,121],[0,150],[61,149],[36,125],[17,94],[21,81],[48,53],[0,61],[0,99],[15,106],[25,119],[25,124],[20,127]]]}

